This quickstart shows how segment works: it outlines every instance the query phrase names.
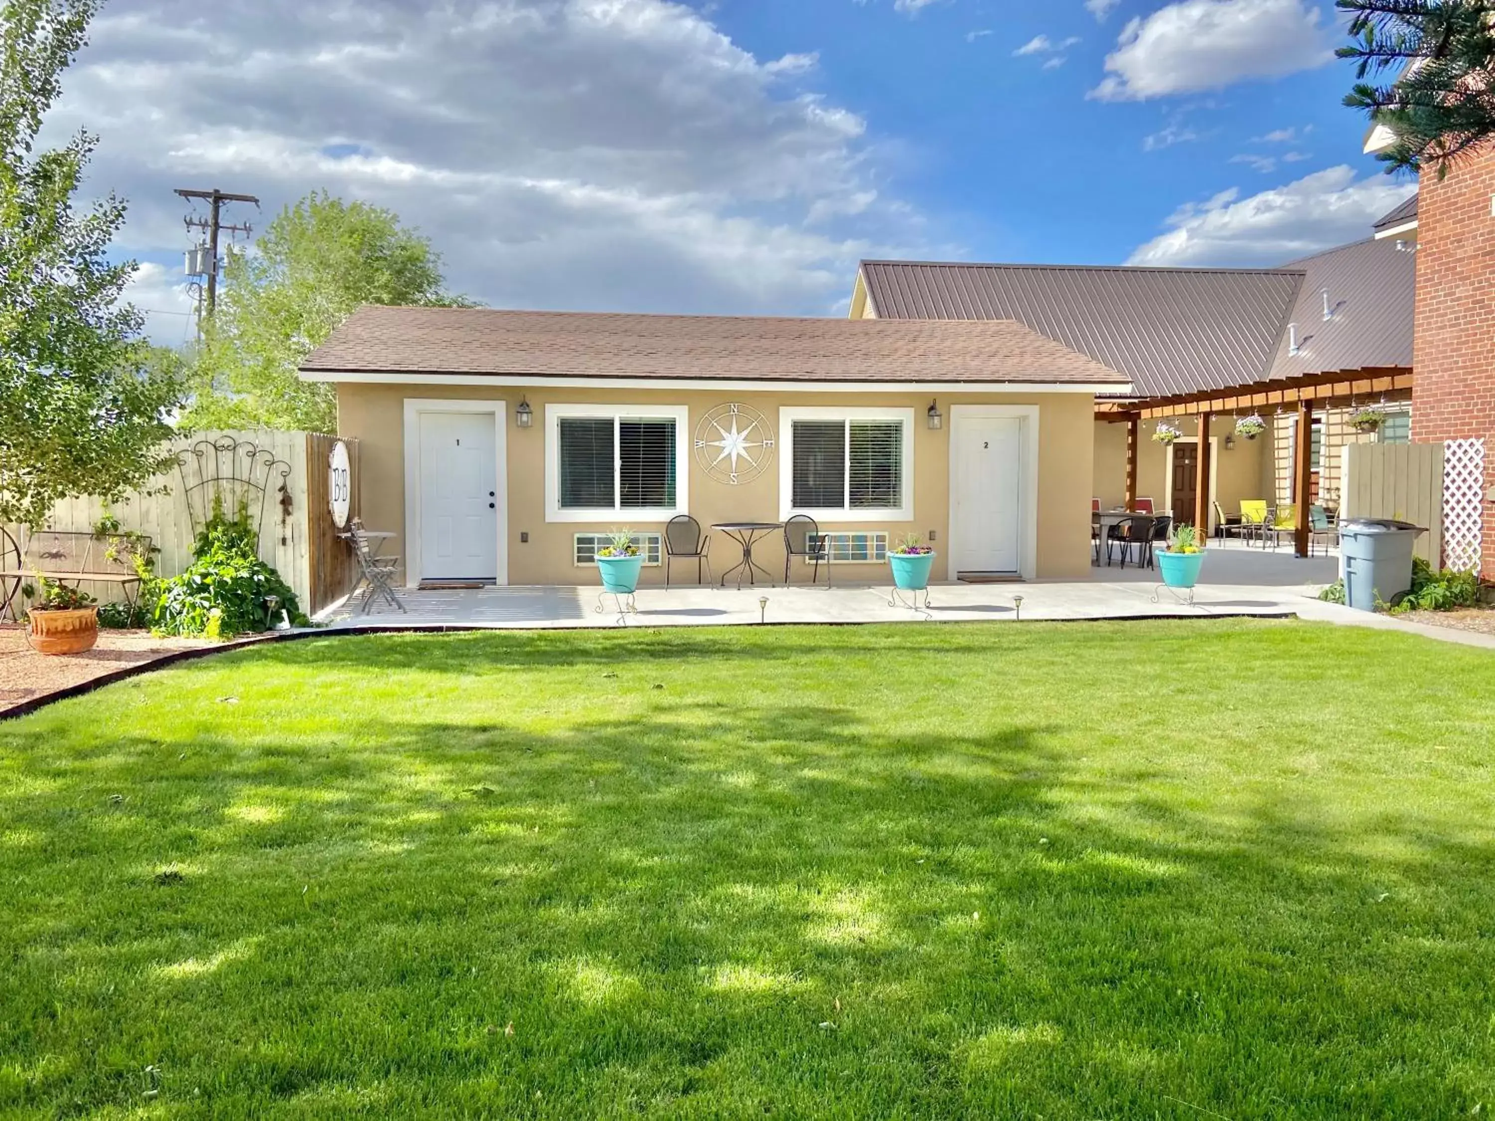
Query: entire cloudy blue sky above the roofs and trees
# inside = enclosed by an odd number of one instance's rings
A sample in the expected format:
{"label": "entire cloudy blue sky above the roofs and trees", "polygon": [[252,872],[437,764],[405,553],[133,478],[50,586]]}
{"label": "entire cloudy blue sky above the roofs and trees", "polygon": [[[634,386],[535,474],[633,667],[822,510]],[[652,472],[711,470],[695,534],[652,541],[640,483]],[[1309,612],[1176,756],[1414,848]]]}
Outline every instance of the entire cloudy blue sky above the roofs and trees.
{"label": "entire cloudy blue sky above the roofs and trees", "polygon": [[396,211],[492,306],[845,314],[861,257],[1280,265],[1411,191],[1326,0],[111,0],[52,127],[163,341],[173,187]]}

